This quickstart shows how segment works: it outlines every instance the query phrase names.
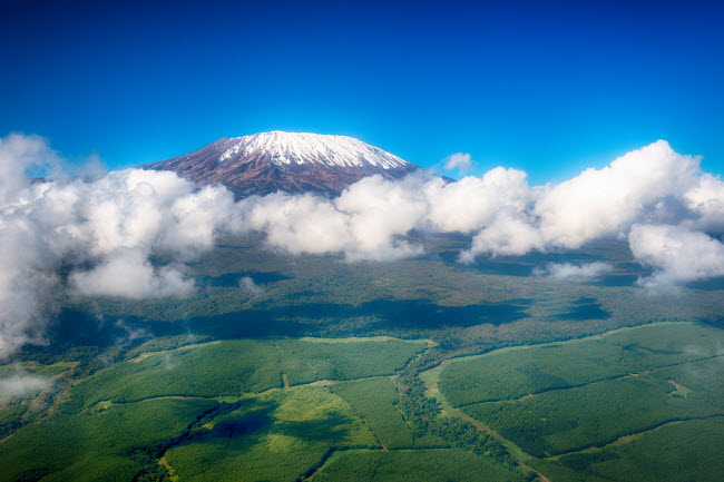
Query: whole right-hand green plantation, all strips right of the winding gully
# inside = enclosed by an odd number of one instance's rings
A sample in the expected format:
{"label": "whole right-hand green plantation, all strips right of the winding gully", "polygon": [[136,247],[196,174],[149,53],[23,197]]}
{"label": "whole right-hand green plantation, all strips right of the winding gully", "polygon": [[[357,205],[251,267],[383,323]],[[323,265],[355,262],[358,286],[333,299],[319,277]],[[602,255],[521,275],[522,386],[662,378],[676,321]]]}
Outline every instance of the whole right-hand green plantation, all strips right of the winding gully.
{"label": "whole right-hand green plantation, all strips right of the winding gully", "polygon": [[[724,442],[722,346],[720,328],[644,326],[458,358],[440,374],[440,387],[560,480],[573,470],[591,480],[715,481],[721,462],[712,444]],[[666,439],[673,434],[681,442]],[[656,470],[643,469],[657,460]]]}

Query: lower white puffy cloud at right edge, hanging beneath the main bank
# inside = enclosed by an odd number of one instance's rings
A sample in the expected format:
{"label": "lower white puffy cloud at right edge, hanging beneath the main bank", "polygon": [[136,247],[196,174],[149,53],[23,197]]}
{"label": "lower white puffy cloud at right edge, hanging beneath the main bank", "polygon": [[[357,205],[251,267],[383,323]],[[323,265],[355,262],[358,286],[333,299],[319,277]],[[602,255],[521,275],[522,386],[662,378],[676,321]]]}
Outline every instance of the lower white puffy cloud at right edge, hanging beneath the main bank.
{"label": "lower white puffy cloud at right edge, hanging beneath the main bank", "polygon": [[639,279],[646,287],[669,286],[724,276],[724,245],[681,226],[634,225],[628,235],[634,256],[655,269]]}

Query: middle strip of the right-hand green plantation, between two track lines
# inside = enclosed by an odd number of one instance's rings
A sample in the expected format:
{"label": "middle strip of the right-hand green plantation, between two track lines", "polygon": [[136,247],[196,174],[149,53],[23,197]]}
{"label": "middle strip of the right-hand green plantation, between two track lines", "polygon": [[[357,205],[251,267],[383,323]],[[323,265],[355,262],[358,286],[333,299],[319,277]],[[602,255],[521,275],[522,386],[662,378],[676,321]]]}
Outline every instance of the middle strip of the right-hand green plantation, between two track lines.
{"label": "middle strip of the right-hand green plantation, between two track lines", "polygon": [[673,420],[724,415],[722,377],[710,378],[708,385],[692,390],[686,397],[675,396],[675,385],[667,382],[689,382],[688,370],[724,370],[723,358],[676,368],[462,410],[536,456],[601,445]]}

